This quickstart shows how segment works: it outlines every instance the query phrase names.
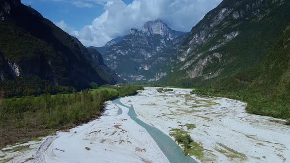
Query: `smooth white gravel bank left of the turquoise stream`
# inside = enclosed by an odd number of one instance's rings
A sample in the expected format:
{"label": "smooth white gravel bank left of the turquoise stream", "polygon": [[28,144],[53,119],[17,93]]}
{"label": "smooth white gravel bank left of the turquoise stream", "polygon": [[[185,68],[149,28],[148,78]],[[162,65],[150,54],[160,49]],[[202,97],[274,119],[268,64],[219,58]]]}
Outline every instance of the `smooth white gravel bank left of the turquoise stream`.
{"label": "smooth white gravel bank left of the turquoise stream", "polygon": [[99,119],[69,132],[58,132],[40,142],[20,145],[29,145],[26,149],[0,151],[0,156],[4,156],[0,162],[12,158],[10,162],[20,163],[34,158],[28,162],[168,163],[152,137],[128,116],[127,108],[112,102],[106,105],[106,111]]}

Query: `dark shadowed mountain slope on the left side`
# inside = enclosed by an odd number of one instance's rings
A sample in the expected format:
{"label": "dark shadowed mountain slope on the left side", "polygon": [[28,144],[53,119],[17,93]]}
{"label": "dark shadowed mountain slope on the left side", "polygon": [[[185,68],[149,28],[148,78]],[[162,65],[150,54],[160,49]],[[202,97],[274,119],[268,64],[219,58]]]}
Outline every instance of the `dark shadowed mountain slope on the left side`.
{"label": "dark shadowed mountain slope on the left side", "polygon": [[7,96],[113,83],[95,69],[79,42],[39,12],[20,0],[0,1],[0,88]]}

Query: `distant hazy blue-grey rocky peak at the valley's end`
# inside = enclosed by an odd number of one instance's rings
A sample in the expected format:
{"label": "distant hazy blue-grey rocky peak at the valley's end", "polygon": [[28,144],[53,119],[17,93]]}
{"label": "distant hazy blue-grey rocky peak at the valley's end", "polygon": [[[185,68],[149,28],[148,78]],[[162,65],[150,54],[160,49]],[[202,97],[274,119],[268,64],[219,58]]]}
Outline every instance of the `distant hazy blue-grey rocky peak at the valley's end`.
{"label": "distant hazy blue-grey rocky peak at the valley's end", "polygon": [[174,54],[163,51],[171,46],[177,49],[184,34],[172,30],[161,20],[146,22],[141,31],[132,28],[128,35],[118,39],[119,42],[107,43],[109,48],[103,54],[104,61],[126,81],[154,79],[163,60]]}

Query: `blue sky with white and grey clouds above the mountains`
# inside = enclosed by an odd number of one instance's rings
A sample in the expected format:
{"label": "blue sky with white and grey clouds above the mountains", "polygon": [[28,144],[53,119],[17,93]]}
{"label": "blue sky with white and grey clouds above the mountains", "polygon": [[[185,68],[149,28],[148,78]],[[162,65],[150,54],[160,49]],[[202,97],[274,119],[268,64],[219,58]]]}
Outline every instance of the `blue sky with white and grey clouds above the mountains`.
{"label": "blue sky with white and grey clouds above the mountains", "polygon": [[21,0],[39,11],[85,46],[108,41],[141,29],[145,22],[162,20],[174,30],[188,32],[222,0]]}

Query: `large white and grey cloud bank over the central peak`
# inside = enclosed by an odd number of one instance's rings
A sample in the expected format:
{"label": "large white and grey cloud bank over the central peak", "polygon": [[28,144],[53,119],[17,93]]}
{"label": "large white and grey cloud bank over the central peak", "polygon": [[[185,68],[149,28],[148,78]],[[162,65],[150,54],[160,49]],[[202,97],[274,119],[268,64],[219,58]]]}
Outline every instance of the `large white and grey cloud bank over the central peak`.
{"label": "large white and grey cloud bank over the central peak", "polygon": [[[104,0],[89,1],[104,2]],[[162,20],[174,30],[187,32],[221,1],[133,0],[126,5],[122,0],[106,0],[105,12],[93,20],[91,25],[73,33],[84,45],[100,47],[117,36],[126,35],[130,28],[140,29],[145,22],[156,19]],[[70,27],[65,26],[63,30],[71,33]]]}

